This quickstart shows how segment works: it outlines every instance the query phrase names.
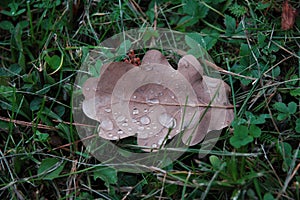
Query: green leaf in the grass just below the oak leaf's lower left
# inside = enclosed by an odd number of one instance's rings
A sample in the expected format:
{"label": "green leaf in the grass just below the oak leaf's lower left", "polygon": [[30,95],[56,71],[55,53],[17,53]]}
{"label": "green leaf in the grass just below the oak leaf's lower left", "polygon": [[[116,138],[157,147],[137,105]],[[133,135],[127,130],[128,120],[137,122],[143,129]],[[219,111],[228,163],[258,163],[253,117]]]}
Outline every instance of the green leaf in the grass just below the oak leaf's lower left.
{"label": "green leaf in the grass just below the oak leaf's lower left", "polygon": [[109,187],[110,184],[116,184],[118,181],[117,171],[111,167],[97,167],[94,171],[94,180],[100,178]]}

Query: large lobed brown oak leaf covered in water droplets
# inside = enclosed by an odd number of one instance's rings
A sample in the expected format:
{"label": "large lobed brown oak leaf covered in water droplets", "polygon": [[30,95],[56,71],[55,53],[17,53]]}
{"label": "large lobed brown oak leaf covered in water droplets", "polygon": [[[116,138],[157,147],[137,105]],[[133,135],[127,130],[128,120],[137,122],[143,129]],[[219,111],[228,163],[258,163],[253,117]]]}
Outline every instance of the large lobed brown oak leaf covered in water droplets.
{"label": "large lobed brown oak leaf covered in water droplets", "polygon": [[138,145],[150,149],[164,147],[175,136],[195,145],[233,120],[229,87],[205,76],[192,55],[179,60],[178,70],[157,50],[146,52],[138,67],[112,62],[82,90],[83,111],[100,122],[100,137],[119,140],[136,135]]}

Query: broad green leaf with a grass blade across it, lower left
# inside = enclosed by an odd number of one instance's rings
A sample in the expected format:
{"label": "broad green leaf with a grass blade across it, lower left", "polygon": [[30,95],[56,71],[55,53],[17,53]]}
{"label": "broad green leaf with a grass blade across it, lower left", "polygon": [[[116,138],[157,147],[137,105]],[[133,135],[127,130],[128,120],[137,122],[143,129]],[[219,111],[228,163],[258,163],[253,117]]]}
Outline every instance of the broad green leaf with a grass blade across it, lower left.
{"label": "broad green leaf with a grass blade across it, lower left", "polygon": [[53,180],[59,177],[64,166],[65,163],[61,163],[57,158],[46,158],[38,169],[38,175],[43,175],[43,180]]}

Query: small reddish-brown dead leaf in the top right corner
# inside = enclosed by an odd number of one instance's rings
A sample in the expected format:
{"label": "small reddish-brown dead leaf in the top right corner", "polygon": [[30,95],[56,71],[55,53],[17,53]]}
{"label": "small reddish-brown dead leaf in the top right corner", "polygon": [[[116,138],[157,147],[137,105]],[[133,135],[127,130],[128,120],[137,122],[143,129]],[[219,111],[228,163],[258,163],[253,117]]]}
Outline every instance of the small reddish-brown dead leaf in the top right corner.
{"label": "small reddish-brown dead leaf in the top right corner", "polygon": [[281,28],[282,30],[292,29],[297,16],[297,11],[286,0],[282,4]]}

